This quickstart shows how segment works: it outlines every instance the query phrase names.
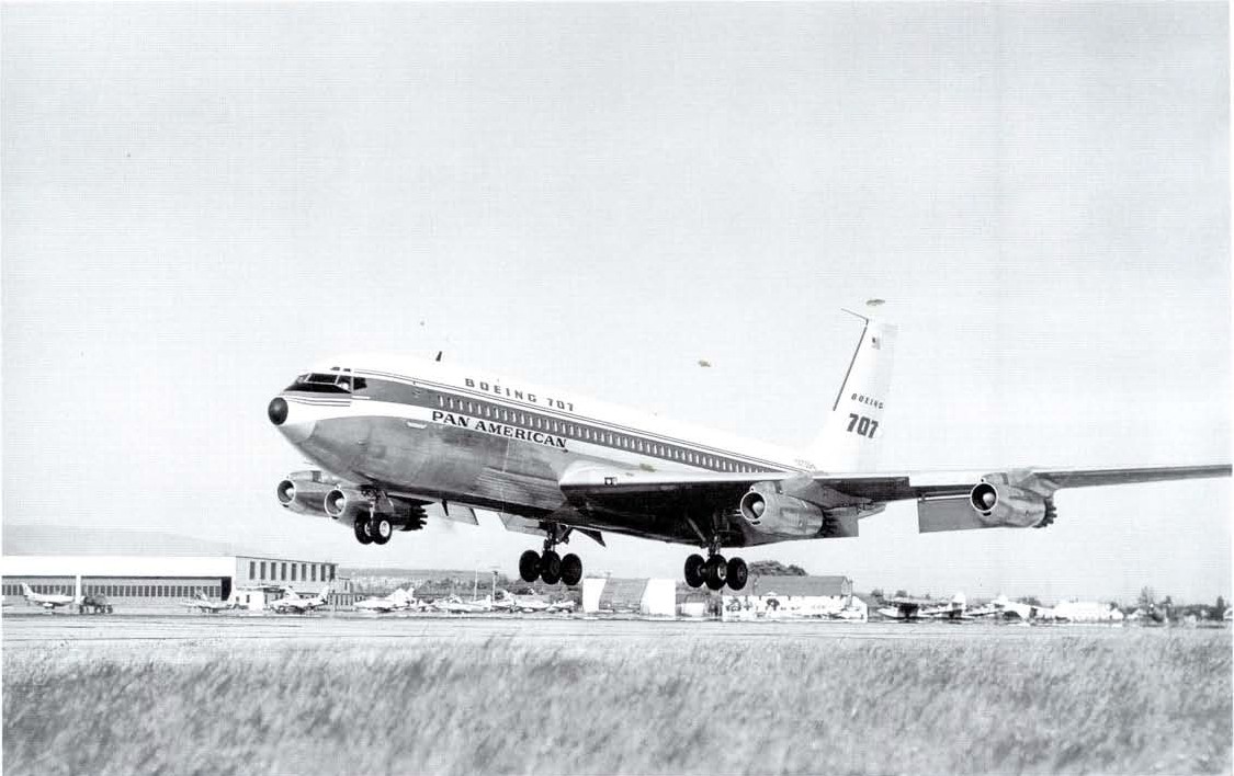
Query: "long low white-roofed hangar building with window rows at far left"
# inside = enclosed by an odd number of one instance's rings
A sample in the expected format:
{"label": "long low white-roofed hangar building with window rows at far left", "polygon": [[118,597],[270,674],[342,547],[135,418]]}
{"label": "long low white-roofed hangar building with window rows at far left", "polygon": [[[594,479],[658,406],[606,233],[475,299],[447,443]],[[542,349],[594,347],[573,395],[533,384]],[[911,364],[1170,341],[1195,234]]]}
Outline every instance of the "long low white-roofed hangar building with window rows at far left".
{"label": "long low white-roofed hangar building with window rows at far left", "polygon": [[[160,603],[191,598],[202,591],[213,601],[227,601],[234,591],[291,587],[316,595],[336,580],[338,564],[263,558],[257,555],[5,555],[5,597],[20,598],[22,584],[37,593],[102,593],[123,603]],[[352,603],[346,591],[332,593],[334,603]]]}

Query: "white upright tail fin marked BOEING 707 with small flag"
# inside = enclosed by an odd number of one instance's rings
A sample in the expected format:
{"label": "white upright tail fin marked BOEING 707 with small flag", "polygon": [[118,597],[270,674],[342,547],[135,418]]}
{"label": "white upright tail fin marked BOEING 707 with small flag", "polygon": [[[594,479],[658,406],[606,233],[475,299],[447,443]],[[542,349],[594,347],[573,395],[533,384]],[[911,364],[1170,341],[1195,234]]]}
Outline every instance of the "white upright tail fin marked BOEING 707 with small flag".
{"label": "white upright tail fin marked BOEING 707 with small flag", "polygon": [[823,431],[806,450],[806,459],[823,471],[868,471],[877,464],[896,327],[858,317],[865,321],[861,338]]}

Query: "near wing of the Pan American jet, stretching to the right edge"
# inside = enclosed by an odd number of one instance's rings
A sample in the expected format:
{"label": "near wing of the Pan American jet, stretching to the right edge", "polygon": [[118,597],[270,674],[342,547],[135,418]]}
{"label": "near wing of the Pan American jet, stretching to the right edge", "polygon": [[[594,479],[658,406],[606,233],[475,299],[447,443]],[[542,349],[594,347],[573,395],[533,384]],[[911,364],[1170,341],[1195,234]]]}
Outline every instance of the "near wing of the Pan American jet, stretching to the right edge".
{"label": "near wing of the Pan American jet, stretching to the right edge", "polygon": [[[743,547],[790,538],[855,537],[858,518],[881,512],[891,501],[917,500],[922,532],[1030,527],[1053,522],[1053,496],[1064,487],[1229,475],[1228,464],[874,474],[645,471],[584,464],[566,470],[559,484],[585,526],[706,543],[703,533],[712,526],[712,516],[721,514],[723,544]],[[817,530],[790,535],[769,532],[768,521],[759,527],[743,521],[738,507],[752,490],[759,490],[769,502],[816,511],[821,519],[811,528]],[[560,518],[571,522],[565,514]]]}

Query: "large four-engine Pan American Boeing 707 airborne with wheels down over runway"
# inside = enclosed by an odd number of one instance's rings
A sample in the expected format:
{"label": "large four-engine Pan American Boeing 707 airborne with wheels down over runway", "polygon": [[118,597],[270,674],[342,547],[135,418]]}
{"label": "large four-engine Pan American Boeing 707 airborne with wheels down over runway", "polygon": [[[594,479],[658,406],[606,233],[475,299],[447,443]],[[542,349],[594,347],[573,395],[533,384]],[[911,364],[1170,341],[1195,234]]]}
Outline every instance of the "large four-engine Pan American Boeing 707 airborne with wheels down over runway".
{"label": "large four-engine Pan American Boeing 707 airborne with wheels down over runway", "polygon": [[916,500],[922,532],[1044,528],[1064,487],[1229,476],[1229,464],[1151,469],[1013,468],[879,473],[896,327],[865,316],[822,432],[789,450],[606,405],[522,380],[384,355],[331,359],[299,375],[267,413],[320,469],[276,495],[325,514],[362,544],[447,519],[497,512],[543,537],[518,563],[523,580],[576,585],[582,561],[558,547],[602,532],[694,544],[692,587],[745,586],[723,548],[858,535],[861,518]]}

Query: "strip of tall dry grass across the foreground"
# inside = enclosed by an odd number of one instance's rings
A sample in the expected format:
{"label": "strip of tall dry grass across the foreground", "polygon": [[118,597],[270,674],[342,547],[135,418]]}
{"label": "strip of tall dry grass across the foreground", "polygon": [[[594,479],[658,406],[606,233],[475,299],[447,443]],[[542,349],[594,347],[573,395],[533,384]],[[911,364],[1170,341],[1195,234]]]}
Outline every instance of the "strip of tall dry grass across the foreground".
{"label": "strip of tall dry grass across the foreground", "polygon": [[7,774],[1230,772],[1229,632],[6,650]]}

